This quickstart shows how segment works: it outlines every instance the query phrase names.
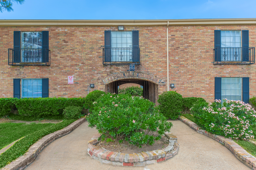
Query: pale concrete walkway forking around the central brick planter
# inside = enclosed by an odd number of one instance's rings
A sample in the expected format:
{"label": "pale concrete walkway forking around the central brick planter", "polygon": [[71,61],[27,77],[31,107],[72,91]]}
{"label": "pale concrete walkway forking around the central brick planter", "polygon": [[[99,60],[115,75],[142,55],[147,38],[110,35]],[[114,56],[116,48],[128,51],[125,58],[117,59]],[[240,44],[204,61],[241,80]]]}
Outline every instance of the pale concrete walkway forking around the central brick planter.
{"label": "pale concrete walkway forking around the central brick planter", "polygon": [[84,122],[68,135],[53,141],[25,170],[250,170],[223,145],[195,132],[183,122],[173,122],[171,133],[180,143],[173,158],[143,167],[101,164],[87,154],[87,141],[97,133]]}

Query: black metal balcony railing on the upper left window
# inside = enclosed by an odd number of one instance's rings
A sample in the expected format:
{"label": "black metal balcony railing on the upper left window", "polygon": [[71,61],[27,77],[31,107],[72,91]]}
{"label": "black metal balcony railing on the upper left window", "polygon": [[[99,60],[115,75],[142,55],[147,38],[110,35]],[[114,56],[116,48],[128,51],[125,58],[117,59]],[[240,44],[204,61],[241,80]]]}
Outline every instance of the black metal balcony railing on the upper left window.
{"label": "black metal balcony railing on the upper left window", "polygon": [[8,65],[11,66],[50,66],[49,49],[8,49]]}

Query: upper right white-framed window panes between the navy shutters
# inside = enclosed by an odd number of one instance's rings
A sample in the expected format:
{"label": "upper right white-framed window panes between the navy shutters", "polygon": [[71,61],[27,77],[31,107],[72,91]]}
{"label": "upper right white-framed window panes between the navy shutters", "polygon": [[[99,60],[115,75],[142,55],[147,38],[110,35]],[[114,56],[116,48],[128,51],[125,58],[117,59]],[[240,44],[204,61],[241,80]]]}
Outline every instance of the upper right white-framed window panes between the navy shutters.
{"label": "upper right white-framed window panes between the navy shutters", "polygon": [[222,61],[241,61],[241,31],[221,31]]}

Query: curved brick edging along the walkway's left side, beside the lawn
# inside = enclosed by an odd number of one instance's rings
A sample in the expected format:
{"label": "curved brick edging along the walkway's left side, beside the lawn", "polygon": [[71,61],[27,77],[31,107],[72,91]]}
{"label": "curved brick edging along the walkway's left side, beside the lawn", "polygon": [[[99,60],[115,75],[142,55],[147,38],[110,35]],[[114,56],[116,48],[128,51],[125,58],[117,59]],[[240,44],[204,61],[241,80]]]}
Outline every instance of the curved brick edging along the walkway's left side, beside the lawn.
{"label": "curved brick edging along the walkway's left side, beside the lawn", "polygon": [[10,164],[4,166],[1,170],[22,170],[26,168],[26,166],[30,165],[33,161],[35,161],[37,155],[41,152],[41,150],[43,150],[45,146],[50,144],[52,141],[64,135],[67,135],[85,121],[85,118],[78,119],[77,121],[71,123],[69,126],[54,133],[50,133],[49,135],[46,135],[45,137],[34,143],[32,146],[30,146],[28,152],[17,158],[15,161],[12,161]]}

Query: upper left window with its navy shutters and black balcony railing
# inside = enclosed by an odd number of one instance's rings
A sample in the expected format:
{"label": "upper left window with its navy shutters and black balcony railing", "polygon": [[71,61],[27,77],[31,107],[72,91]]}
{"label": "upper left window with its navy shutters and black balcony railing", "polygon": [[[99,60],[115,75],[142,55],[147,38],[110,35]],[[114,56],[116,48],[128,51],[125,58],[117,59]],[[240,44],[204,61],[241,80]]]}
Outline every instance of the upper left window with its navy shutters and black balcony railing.
{"label": "upper left window with its navy shutters and black balcony railing", "polygon": [[14,31],[9,65],[50,66],[49,31]]}

